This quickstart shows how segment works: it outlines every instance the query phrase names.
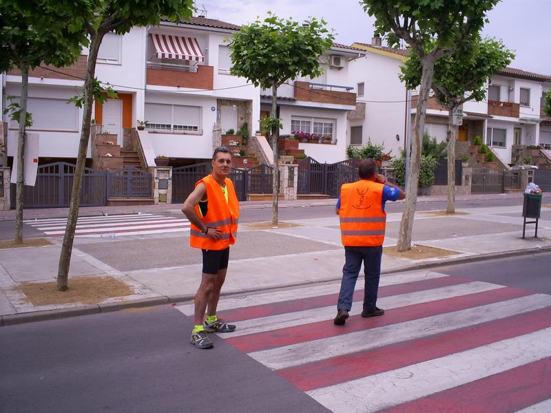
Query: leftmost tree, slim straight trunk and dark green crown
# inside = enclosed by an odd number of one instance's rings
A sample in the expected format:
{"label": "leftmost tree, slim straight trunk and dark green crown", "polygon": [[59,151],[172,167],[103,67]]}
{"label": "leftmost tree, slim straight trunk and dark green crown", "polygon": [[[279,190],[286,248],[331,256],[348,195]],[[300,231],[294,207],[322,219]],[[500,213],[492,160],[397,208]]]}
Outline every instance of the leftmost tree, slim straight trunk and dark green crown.
{"label": "leftmost tree, slim straight trunk and dark green crown", "polygon": [[19,123],[17,139],[17,183],[15,195],[16,244],[23,243],[23,171],[26,128],[32,125],[27,113],[29,70],[41,63],[56,67],[78,59],[81,43],[79,10],[74,1],[0,1],[0,72],[21,70],[21,96],[4,111]]}

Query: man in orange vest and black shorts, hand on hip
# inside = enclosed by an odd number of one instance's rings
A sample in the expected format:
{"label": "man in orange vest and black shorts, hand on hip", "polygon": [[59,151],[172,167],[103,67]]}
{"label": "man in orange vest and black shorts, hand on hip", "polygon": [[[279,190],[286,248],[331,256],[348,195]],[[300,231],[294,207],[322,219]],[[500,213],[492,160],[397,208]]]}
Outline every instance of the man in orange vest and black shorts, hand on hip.
{"label": "man in orange vest and black shorts, hand on hip", "polygon": [[228,178],[231,172],[229,150],[216,148],[211,165],[212,173],[196,182],[182,207],[191,222],[189,245],[202,251],[202,277],[195,295],[195,326],[190,339],[191,344],[202,349],[214,346],[207,332],[236,329],[216,316],[220,289],[226,279],[229,246],[236,242],[239,220],[236,190]]}

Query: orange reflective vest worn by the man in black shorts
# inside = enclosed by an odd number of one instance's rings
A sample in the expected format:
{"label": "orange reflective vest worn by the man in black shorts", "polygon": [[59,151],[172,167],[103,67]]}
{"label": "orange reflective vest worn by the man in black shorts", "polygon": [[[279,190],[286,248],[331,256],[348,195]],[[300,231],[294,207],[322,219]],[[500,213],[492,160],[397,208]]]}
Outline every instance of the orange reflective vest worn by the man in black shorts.
{"label": "orange reflective vest worn by the man in black shorts", "polygon": [[202,222],[209,228],[220,229],[220,240],[213,240],[209,235],[205,235],[201,230],[191,224],[189,231],[189,245],[194,248],[202,248],[220,251],[236,243],[237,227],[239,220],[239,202],[237,200],[236,189],[233,187],[231,179],[226,178],[226,188],[228,191],[228,200],[222,192],[222,187],[212,175],[205,176],[202,180],[196,182],[205,184],[207,189],[207,199],[209,200],[209,209],[205,216],[201,217],[199,207],[196,205],[195,211]]}

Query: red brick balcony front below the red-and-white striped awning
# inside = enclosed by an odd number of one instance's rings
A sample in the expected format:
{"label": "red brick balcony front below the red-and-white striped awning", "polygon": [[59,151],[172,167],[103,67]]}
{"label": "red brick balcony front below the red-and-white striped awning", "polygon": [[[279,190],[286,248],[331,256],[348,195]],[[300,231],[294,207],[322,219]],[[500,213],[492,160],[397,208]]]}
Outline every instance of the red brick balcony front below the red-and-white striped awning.
{"label": "red brick balcony front below the red-and-white striped awning", "polygon": [[204,65],[198,66],[196,73],[148,67],[147,84],[191,87],[194,89],[212,89],[214,85],[214,67]]}

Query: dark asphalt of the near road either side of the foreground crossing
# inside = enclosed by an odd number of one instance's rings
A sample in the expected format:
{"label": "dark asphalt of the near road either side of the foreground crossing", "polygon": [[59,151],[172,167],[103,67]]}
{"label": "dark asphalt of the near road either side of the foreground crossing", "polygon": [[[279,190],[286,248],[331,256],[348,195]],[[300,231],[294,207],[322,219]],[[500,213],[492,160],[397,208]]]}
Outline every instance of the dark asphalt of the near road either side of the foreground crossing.
{"label": "dark asphalt of the near road either side of the foreground crossing", "polygon": [[[551,294],[551,253],[434,271]],[[329,321],[328,321],[329,322]],[[326,412],[171,306],[0,328],[3,412]]]}

